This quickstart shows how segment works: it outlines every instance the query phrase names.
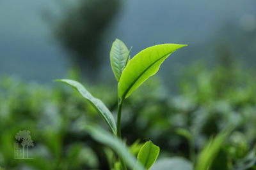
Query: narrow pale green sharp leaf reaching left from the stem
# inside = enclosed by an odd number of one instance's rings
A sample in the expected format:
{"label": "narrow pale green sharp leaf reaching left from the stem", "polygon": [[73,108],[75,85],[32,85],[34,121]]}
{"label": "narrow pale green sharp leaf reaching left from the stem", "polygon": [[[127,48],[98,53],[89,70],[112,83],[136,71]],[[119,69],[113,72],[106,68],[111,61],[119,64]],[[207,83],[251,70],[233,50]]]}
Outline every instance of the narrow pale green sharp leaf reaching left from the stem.
{"label": "narrow pale green sharp leaf reaching left from the stem", "polygon": [[108,110],[108,108],[105,106],[100,99],[97,99],[86,90],[81,83],[74,81],[74,80],[67,80],[67,79],[61,79],[56,80],[63,83],[66,83],[70,85],[71,87],[74,87],[85,99],[90,101],[90,103],[93,105],[93,107],[99,112],[100,116],[105,120],[105,122],[108,124],[109,128],[113,132],[113,134],[116,134],[116,122],[112,115],[112,113]]}

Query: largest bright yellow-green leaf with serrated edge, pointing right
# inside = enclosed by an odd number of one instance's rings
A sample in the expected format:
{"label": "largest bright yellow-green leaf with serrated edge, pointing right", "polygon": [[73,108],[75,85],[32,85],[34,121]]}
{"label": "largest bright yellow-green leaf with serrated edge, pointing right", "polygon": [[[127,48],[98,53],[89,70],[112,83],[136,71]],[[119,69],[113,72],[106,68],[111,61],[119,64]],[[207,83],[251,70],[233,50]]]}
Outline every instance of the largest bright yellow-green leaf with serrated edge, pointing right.
{"label": "largest bright yellow-green leaf with serrated edge, pointing right", "polygon": [[129,97],[150,76],[157,73],[163,61],[175,50],[186,46],[177,44],[156,45],[142,50],[125,67],[119,81],[121,99]]}

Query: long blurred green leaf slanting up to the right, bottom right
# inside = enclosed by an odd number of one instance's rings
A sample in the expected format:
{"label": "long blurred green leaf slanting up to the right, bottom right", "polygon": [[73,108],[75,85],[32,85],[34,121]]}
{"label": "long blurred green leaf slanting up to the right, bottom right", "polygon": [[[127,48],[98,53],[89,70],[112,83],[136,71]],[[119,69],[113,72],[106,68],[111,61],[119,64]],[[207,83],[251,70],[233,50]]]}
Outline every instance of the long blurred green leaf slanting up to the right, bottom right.
{"label": "long blurred green leaf slanting up to the right, bottom right", "polygon": [[210,139],[209,143],[207,143],[198,157],[195,170],[205,170],[211,167],[212,161],[220,151],[223,141],[225,141],[233,129],[233,126],[229,126],[227,129],[220,132],[214,139]]}

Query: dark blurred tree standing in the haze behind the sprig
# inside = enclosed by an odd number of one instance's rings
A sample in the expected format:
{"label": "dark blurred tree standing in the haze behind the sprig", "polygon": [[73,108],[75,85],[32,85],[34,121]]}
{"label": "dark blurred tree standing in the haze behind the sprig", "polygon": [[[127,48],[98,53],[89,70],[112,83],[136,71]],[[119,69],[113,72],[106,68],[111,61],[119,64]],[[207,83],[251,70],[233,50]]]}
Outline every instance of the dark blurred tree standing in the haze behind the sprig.
{"label": "dark blurred tree standing in the haze behind the sprig", "polygon": [[64,6],[63,18],[56,23],[56,38],[72,53],[74,64],[83,73],[99,69],[102,59],[98,47],[119,4],[120,0],[78,0],[75,6]]}

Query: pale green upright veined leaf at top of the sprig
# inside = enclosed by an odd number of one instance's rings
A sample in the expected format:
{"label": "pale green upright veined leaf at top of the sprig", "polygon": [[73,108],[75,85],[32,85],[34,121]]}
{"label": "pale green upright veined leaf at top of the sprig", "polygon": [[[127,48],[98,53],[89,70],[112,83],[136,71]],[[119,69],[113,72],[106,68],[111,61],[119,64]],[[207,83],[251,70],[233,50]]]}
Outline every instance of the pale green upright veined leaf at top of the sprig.
{"label": "pale green upright veined leaf at top of the sprig", "polygon": [[127,47],[120,39],[116,39],[110,50],[110,62],[113,73],[115,74],[116,80],[118,82],[129,60],[130,53]]}

